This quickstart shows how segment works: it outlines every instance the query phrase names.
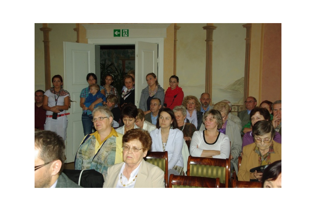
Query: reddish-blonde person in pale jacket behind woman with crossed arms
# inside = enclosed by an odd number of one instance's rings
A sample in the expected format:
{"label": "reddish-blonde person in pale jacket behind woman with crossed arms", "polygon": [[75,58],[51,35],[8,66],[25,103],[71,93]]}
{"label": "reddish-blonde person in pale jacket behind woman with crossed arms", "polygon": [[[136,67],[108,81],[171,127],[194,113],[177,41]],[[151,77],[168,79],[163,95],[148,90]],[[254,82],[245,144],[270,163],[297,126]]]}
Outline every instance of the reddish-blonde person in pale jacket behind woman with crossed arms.
{"label": "reddish-blonde person in pale jacket behind woman with crossed arms", "polygon": [[228,114],[230,107],[226,102],[218,102],[214,105],[214,109],[218,110],[222,114],[223,125],[219,129],[219,132],[226,134],[230,141],[230,162],[231,170],[235,169],[238,172],[238,157],[241,152],[242,140],[240,136],[240,130],[238,125],[233,121],[228,119]]}

